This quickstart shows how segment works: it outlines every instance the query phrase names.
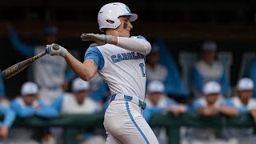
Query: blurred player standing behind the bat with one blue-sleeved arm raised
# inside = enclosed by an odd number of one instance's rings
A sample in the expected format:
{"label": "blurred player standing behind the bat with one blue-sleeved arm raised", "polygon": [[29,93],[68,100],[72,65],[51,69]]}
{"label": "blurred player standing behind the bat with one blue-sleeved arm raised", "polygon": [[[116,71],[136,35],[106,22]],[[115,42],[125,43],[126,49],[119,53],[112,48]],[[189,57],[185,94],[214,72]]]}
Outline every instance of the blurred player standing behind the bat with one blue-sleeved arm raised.
{"label": "blurred player standing behind the bat with one blue-sleeved arm raised", "polygon": [[[46,44],[58,41],[58,28],[56,26],[45,27],[45,43],[38,46],[29,46],[22,43],[18,39],[18,35],[13,27],[10,27],[10,41],[15,50],[18,50],[27,58],[33,57],[46,49]],[[67,66],[65,59],[59,57],[51,57],[46,54],[33,63],[33,81],[40,87],[38,98],[40,101],[50,104],[57,95],[66,90],[68,82],[70,82],[75,74]]]}

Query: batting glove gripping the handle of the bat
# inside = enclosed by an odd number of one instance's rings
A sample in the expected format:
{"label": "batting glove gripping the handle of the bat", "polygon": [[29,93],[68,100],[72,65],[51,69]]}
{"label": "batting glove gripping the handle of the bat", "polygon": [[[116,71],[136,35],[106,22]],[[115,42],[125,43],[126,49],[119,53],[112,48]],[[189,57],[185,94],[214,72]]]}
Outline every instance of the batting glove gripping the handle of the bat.
{"label": "batting glove gripping the handle of the bat", "polygon": [[67,54],[67,50],[64,47],[53,43],[51,45],[46,45],[46,53],[50,54],[51,56],[60,55],[63,58],[65,58]]}

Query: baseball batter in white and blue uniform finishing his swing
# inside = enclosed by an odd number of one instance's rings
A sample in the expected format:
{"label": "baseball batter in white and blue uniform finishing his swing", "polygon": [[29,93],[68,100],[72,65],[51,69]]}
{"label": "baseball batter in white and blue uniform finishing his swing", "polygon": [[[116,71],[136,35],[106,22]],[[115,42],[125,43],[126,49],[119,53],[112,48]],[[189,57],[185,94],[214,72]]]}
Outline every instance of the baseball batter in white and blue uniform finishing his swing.
{"label": "baseball batter in white and blue uniform finishing his swing", "polygon": [[105,34],[82,34],[82,41],[94,41],[86,51],[85,61],[79,62],[64,47],[54,50],[46,46],[50,55],[66,59],[74,73],[83,80],[98,74],[106,81],[112,94],[106,110],[104,126],[107,144],[158,143],[150,126],[142,117],[145,109],[146,55],[150,42],[142,36],[130,37],[130,22],[138,18],[128,6],[114,2],[102,6],[98,12],[99,29]]}

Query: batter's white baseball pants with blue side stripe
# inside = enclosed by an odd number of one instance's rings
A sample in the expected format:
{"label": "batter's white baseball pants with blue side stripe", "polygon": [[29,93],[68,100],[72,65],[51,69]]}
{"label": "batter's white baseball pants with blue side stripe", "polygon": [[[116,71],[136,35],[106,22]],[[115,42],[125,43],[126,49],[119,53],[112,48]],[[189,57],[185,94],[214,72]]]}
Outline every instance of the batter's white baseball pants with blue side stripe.
{"label": "batter's white baseball pants with blue side stripe", "polygon": [[104,126],[106,144],[158,144],[141,108],[133,102],[114,100],[106,110]]}

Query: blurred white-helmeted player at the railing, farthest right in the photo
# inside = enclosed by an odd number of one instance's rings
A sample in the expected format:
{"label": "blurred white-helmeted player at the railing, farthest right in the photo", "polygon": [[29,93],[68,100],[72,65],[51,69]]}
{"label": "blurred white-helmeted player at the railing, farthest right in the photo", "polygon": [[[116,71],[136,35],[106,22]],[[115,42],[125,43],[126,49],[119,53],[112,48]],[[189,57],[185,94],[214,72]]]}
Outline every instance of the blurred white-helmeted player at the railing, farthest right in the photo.
{"label": "blurred white-helmeted player at the railing, farthest right in the photo", "polygon": [[[254,82],[250,78],[241,78],[237,85],[238,96],[225,102],[226,106],[233,106],[238,114],[251,114],[256,122],[256,100],[251,98],[254,92]],[[238,143],[252,144],[256,142],[254,128],[226,128],[223,130],[225,138],[235,139]]]}

